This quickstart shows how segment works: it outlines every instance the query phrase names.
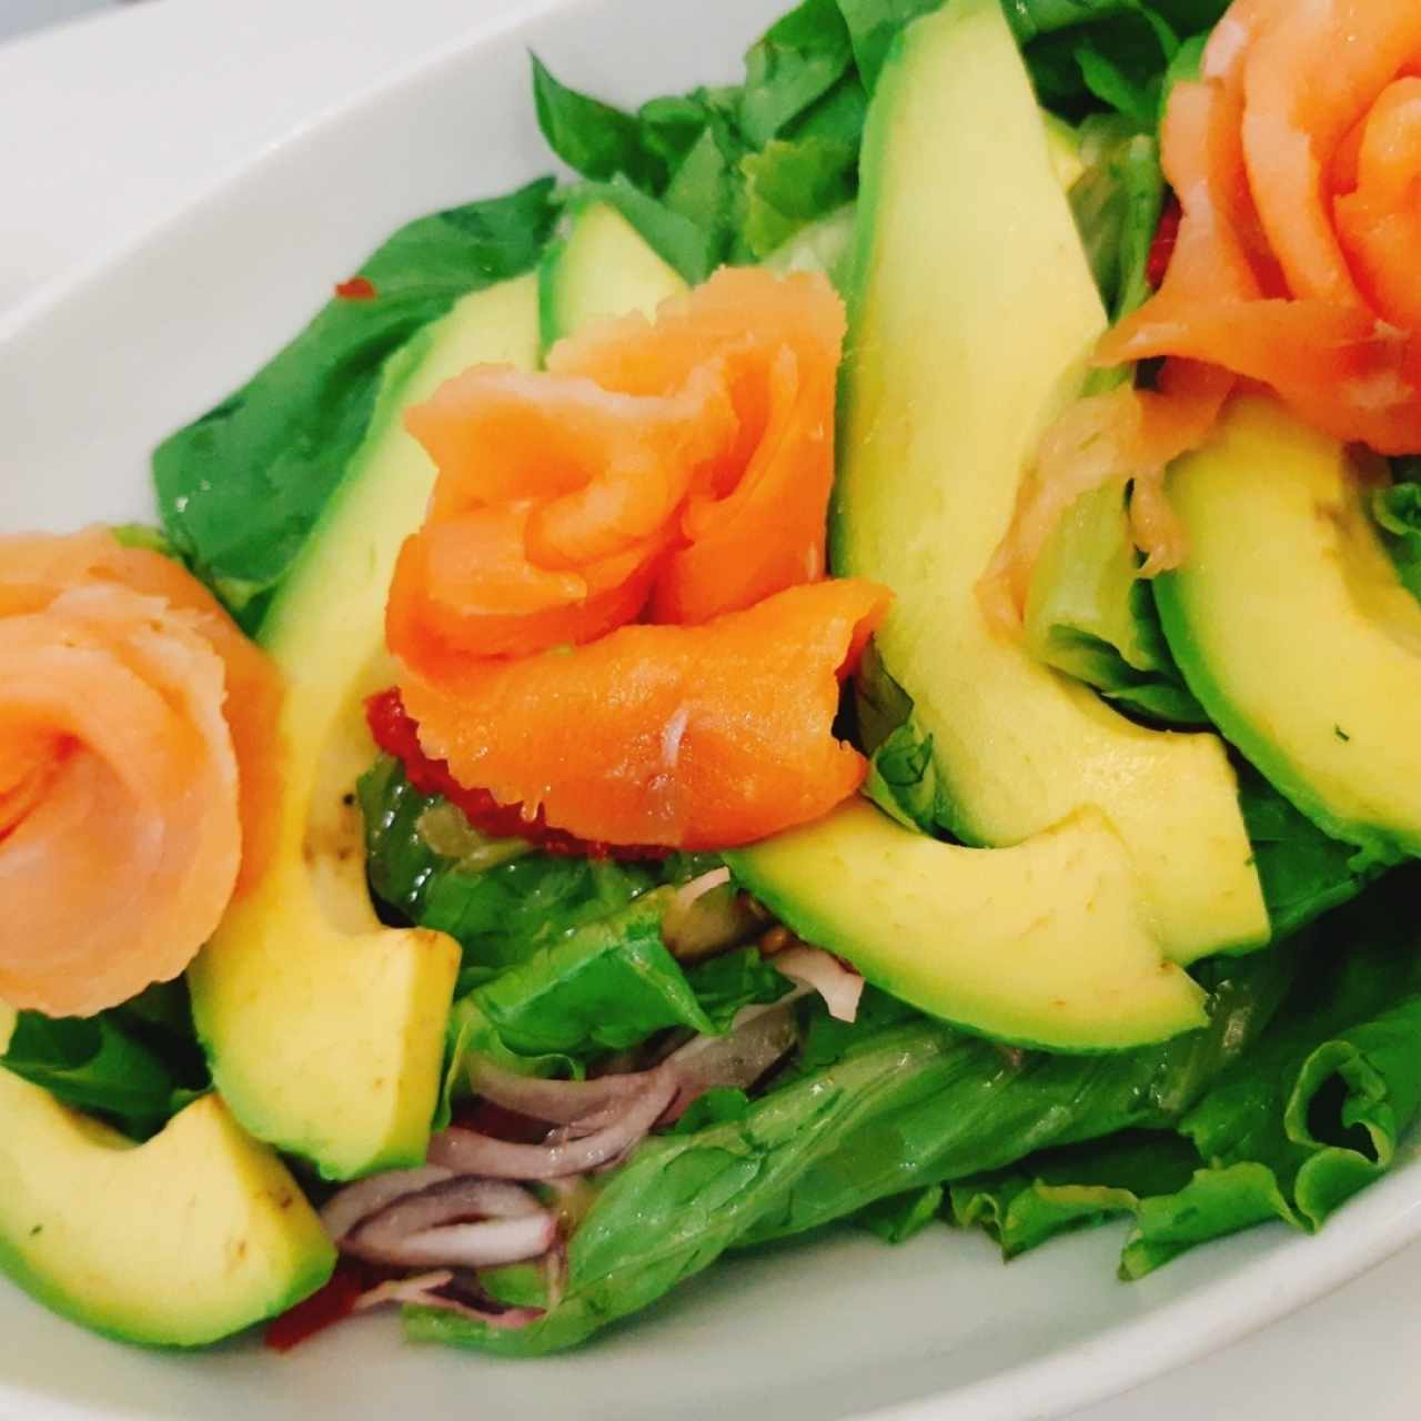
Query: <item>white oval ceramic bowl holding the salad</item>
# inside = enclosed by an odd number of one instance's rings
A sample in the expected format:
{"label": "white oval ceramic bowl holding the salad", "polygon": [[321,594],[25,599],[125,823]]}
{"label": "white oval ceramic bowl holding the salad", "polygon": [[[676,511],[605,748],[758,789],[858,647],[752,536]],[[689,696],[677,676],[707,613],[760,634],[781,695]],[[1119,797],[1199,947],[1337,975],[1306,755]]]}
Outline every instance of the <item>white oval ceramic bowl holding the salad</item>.
{"label": "white oval ceramic bowl holding the salad", "polygon": [[[784,0],[546,0],[360,92],[128,250],[0,324],[0,529],[151,516],[148,450],[288,337],[399,222],[550,166],[524,51],[625,101],[733,78]],[[0,1121],[3,1128],[3,1121]],[[121,1228],[122,1221],[115,1221]],[[932,1229],[729,1260],[591,1347],[496,1361],[368,1317],[288,1357],[91,1337],[0,1283],[0,1415],[26,1421],[455,1414],[685,1421],[1047,1417],[1289,1312],[1421,1236],[1421,1162],[1316,1239],[1280,1226],[1114,1280],[1120,1232],[1003,1268]]]}

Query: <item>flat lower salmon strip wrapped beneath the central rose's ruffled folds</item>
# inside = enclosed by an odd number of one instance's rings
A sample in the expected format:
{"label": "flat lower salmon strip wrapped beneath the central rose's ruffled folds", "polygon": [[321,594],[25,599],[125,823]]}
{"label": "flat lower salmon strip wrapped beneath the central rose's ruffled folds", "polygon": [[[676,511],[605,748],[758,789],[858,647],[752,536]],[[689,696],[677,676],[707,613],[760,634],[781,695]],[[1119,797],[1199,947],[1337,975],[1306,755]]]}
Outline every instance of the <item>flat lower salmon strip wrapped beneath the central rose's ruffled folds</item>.
{"label": "flat lower salmon strip wrapped beneath the central rose's ruffled folds", "polygon": [[428,756],[460,784],[584,840],[728,848],[828,813],[867,764],[836,739],[841,679],[887,610],[821,581],[699,627],[401,681]]}

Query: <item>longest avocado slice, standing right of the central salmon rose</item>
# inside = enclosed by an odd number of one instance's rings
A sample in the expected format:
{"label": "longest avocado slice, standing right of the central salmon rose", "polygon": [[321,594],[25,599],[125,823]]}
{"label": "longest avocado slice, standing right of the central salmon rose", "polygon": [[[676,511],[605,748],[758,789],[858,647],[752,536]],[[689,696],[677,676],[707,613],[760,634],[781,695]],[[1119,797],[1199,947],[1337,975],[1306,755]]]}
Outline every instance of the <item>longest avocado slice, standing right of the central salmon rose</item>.
{"label": "longest avocado slice, standing right of the central salmon rose", "polygon": [[996,0],[902,31],[861,175],[831,556],[897,593],[878,649],[931,736],[941,826],[1010,845],[1094,806],[1174,961],[1265,944],[1219,737],[1133,723],[978,604],[1039,435],[1106,324]]}

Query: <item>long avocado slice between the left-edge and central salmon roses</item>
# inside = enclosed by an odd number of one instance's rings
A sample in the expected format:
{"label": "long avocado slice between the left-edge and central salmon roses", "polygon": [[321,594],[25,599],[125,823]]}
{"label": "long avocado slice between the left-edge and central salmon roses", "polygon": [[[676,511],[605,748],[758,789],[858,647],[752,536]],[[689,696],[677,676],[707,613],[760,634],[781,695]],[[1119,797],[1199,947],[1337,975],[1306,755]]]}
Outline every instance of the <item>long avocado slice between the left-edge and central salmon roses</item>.
{"label": "long avocado slice between the left-edge and central salmon roses", "polygon": [[287,676],[270,865],[189,969],[217,1090],[257,1138],[331,1179],[423,1161],[459,948],[387,928],[365,884],[362,699],[389,685],[385,594],[433,465],[404,411],[483,361],[537,360],[537,280],[465,297],[389,362],[371,432],[261,624]]}

